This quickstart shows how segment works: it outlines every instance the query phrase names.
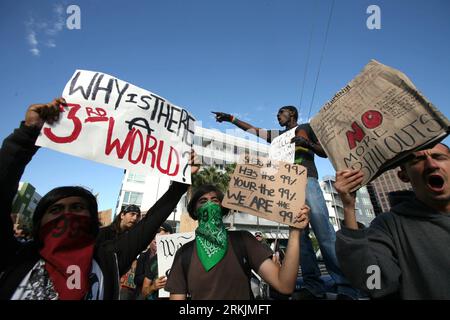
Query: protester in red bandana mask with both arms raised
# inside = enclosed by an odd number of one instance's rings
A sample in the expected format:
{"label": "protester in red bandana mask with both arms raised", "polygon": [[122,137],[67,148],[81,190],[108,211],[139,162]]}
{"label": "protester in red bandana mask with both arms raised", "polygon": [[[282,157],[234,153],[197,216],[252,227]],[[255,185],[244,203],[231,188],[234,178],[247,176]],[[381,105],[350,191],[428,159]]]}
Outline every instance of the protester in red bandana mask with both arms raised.
{"label": "protester in red bandana mask with both arms raised", "polygon": [[[38,150],[35,141],[44,122],[56,121],[64,104],[64,99],[58,98],[30,106],[25,121],[0,149],[0,299],[118,299],[118,279],[147,247],[188,188],[172,183],[132,230],[100,243],[96,242],[99,221],[95,196],[82,187],[58,187],[37,204],[34,239],[17,241],[9,215],[20,177]],[[196,171],[198,167],[193,166],[192,173]]]}

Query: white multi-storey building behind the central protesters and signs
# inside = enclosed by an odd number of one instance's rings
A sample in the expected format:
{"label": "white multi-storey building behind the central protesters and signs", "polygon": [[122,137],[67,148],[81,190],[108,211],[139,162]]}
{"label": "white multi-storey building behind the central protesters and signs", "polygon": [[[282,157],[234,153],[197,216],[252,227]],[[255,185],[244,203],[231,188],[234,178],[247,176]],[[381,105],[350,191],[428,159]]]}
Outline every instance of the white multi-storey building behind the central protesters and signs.
{"label": "white multi-storey building behind the central protesters and signs", "polygon": [[[267,156],[269,145],[261,143],[259,138],[242,130],[230,130],[223,133],[218,130],[197,127],[194,136],[194,150],[201,159],[202,167],[214,166],[223,170],[225,165],[236,163],[239,156],[248,154],[253,156]],[[233,134],[230,134],[233,133]],[[141,211],[147,212],[149,208],[167,191],[170,180],[154,175],[144,175],[125,171],[122,187],[117,201],[115,215],[127,204],[136,204]],[[181,198],[174,212],[168,220],[176,230],[179,230],[180,218],[187,212],[186,194]],[[267,238],[288,237],[288,228],[285,225],[262,219],[241,212],[234,212],[225,218],[230,229],[244,229],[251,232],[262,231]]]}

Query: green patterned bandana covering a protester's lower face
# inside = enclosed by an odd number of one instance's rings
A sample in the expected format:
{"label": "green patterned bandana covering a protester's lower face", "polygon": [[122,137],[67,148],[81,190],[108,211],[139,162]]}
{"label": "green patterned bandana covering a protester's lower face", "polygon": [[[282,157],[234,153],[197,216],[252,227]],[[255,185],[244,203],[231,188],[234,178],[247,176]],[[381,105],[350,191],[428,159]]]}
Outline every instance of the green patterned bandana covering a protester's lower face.
{"label": "green patterned bandana covering a protester's lower face", "polygon": [[197,209],[198,227],[195,230],[197,254],[206,271],[225,256],[228,234],[222,221],[222,208],[208,201]]}

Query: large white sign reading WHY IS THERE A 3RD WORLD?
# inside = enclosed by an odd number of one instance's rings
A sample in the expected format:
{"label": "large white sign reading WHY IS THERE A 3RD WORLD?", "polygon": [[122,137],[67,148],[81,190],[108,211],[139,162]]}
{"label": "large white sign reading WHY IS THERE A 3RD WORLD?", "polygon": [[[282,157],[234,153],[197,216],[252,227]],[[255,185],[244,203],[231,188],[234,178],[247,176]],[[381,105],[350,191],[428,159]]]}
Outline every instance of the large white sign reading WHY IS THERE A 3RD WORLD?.
{"label": "large white sign reading WHY IS THERE A 3RD WORLD?", "polygon": [[77,70],[64,88],[60,120],[36,142],[135,172],[190,183],[194,117],[160,96],[113,76]]}

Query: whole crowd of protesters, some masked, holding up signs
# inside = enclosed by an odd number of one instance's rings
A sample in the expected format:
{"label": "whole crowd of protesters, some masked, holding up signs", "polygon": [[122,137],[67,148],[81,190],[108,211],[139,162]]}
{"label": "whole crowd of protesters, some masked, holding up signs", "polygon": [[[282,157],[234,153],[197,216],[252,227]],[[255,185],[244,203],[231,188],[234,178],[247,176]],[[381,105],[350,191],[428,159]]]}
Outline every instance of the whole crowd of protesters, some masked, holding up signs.
{"label": "whole crowd of protesters, some masked, holding up signs", "polygon": [[[344,225],[337,233],[318,184],[314,156],[326,154],[308,123],[298,124],[298,110],[281,107],[282,130],[254,127],[235,116],[215,112],[267,142],[295,129],[295,163],[308,169],[306,204],[289,229],[283,259],[247,231],[229,231],[223,218],[223,193],[215,185],[193,190],[188,213],[198,221],[195,240],[176,253],[166,278],[157,273],[155,236],[172,233],[165,221],[188,185],[173,182],[141,218],[141,209],[124,207],[114,222],[99,228],[96,197],[77,186],[57,187],[37,204],[32,239],[14,234],[10,219],[20,178],[39,150],[36,139],[44,122],[56,122],[65,100],[33,104],[24,120],[0,149],[0,299],[96,300],[157,299],[164,288],[170,299],[252,299],[251,279],[257,276],[279,297],[294,291],[299,264],[303,286],[299,299],[324,299],[326,289],[311,244],[310,227],[318,240],[338,298],[450,299],[450,151],[442,143],[413,152],[398,171],[413,191],[389,212],[360,228],[355,191],[363,173],[336,173],[336,190],[344,205]],[[192,174],[199,170],[191,155]],[[48,169],[52,174],[51,167]],[[119,279],[122,279],[119,281]]]}

